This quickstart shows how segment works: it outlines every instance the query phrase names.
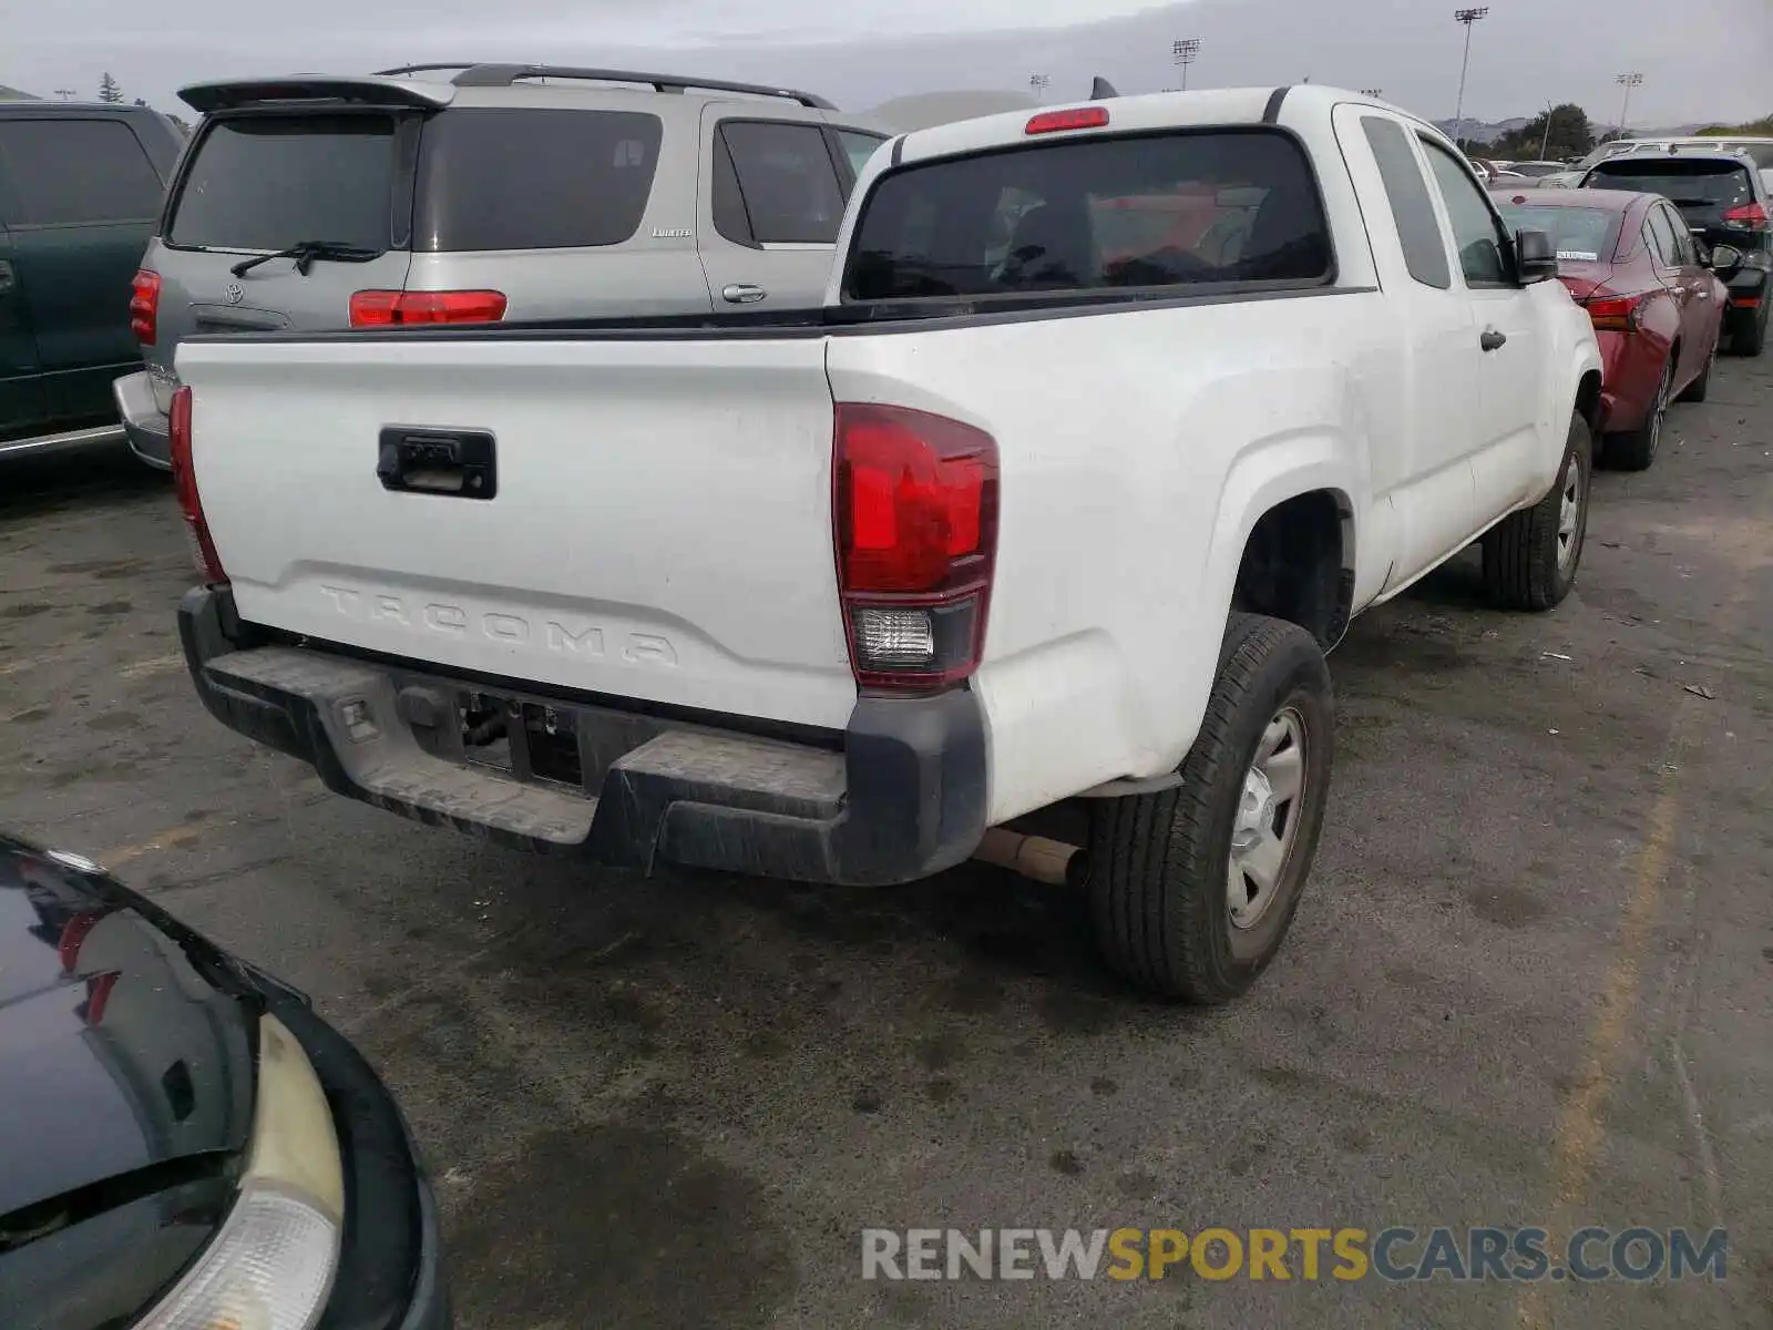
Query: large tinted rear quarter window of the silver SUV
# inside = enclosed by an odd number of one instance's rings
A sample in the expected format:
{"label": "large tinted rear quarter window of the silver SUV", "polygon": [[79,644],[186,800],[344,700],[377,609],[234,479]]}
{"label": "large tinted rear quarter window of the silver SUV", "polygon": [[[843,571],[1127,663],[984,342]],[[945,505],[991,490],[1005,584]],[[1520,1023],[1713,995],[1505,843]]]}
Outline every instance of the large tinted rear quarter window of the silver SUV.
{"label": "large tinted rear quarter window of the silver SUV", "polygon": [[445,110],[418,151],[413,248],[622,245],[652,197],[663,135],[645,112]]}

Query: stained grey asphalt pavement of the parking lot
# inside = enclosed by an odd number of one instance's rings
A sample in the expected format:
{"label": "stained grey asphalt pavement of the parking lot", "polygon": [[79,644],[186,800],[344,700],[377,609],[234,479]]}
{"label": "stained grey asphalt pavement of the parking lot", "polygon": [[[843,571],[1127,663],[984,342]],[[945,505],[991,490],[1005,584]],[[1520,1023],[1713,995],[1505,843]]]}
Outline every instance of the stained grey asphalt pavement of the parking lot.
{"label": "stained grey asphalt pavement of the parking lot", "polygon": [[[321,789],[177,654],[165,477],[0,475],[0,825],[314,995],[433,1167],[463,1330],[1773,1326],[1773,356],[1599,472],[1578,589],[1464,559],[1333,654],[1319,867],[1241,1004],[1080,901],[645,880]],[[271,502],[268,498],[268,502]],[[865,1280],[862,1229],[1729,1231],[1727,1277]]]}

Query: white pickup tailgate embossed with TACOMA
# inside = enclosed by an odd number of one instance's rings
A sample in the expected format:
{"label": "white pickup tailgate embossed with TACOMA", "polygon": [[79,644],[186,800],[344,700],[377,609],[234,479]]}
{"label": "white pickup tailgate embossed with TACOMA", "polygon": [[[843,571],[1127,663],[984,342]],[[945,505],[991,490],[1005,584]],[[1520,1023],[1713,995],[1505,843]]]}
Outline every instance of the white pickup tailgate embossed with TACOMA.
{"label": "white pickup tailgate embossed with TACOMA", "polygon": [[[840,729],[826,339],[188,342],[248,622],[502,679]],[[388,438],[493,436],[491,498]],[[418,477],[424,481],[424,477]]]}

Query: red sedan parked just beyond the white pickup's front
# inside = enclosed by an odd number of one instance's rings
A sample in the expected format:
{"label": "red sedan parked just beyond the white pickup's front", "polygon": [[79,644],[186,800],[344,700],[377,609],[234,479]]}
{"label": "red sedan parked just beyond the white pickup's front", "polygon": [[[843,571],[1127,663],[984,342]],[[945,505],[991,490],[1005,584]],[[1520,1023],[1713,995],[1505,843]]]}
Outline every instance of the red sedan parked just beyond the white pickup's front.
{"label": "red sedan parked just beyond the white pickup's front", "polygon": [[1544,231],[1558,277],[1601,342],[1605,458],[1642,472],[1674,401],[1704,401],[1741,254],[1707,254],[1661,195],[1621,190],[1491,193],[1509,231]]}

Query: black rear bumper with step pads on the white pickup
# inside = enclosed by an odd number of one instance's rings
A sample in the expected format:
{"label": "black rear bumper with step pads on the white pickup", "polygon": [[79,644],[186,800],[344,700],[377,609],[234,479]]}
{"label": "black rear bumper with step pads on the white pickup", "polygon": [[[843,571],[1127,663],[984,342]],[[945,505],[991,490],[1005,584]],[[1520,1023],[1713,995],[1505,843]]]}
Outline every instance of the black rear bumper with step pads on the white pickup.
{"label": "black rear bumper with step pads on the white pickup", "polygon": [[[216,720],[300,757],[339,794],[527,849],[821,883],[897,883],[968,858],[986,830],[984,711],[968,690],[862,697],[828,747],[718,716],[660,718],[323,649],[266,645],[225,589],[179,605],[197,693]],[[465,761],[457,695],[548,708],[576,747],[543,780]],[[516,732],[523,732],[521,722]],[[558,777],[558,771],[557,771]]]}

